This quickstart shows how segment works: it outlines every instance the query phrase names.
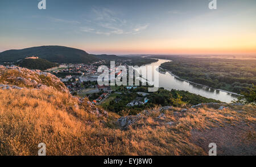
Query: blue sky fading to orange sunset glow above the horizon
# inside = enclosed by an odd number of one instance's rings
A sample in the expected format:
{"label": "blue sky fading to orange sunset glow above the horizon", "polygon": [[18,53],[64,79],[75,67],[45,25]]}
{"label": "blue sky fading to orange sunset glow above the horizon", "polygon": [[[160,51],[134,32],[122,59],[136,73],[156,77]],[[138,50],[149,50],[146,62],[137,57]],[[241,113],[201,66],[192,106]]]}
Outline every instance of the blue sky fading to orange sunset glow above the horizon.
{"label": "blue sky fading to orange sunset glow above the horizon", "polygon": [[256,54],[256,1],[0,1],[0,52],[61,45],[92,54]]}

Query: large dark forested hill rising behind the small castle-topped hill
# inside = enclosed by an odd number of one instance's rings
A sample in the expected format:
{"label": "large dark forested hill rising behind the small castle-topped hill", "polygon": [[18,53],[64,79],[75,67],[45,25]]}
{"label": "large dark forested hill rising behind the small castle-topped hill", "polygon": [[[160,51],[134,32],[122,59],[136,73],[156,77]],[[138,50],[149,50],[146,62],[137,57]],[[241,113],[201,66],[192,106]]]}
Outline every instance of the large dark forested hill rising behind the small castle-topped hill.
{"label": "large dark forested hill rising behind the small castle-topped hill", "polygon": [[36,46],[19,50],[6,50],[0,53],[0,62],[15,62],[31,55],[55,63],[89,63],[99,60],[94,55],[80,49],[65,46]]}

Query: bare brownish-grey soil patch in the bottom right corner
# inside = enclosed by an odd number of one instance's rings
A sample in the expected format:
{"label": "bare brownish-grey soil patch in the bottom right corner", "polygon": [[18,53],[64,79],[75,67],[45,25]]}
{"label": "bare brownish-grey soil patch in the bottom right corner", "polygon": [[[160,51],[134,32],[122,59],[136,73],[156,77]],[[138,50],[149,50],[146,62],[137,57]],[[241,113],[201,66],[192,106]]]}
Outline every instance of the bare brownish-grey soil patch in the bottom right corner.
{"label": "bare brownish-grey soil patch in the bottom right corner", "polygon": [[191,142],[199,145],[208,153],[209,143],[216,143],[218,156],[255,156],[256,155],[256,134],[255,124],[226,123],[223,127],[212,127],[209,130],[192,130]]}

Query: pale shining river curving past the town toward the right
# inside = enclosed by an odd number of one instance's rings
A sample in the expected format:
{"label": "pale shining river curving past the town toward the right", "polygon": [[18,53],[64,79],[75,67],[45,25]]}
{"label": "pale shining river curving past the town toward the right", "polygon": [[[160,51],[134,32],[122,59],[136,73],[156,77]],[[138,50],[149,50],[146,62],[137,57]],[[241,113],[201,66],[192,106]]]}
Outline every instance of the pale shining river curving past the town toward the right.
{"label": "pale shining river curving past the town toward the right", "polygon": [[[156,70],[156,68],[158,68],[164,62],[170,62],[170,61],[165,59],[158,59],[158,62],[154,62],[145,66],[146,67],[152,66],[151,72],[152,72],[152,75],[154,75],[153,70]],[[137,68],[137,70],[139,70],[140,68],[143,68],[143,66]],[[147,68],[147,70],[150,70],[150,69]],[[142,77],[146,78],[146,76],[143,76],[143,75]],[[171,91],[171,89],[188,91],[191,93],[195,93],[197,95],[220,100],[223,102],[231,102],[232,100],[237,100],[237,95],[233,95],[232,93],[227,93],[227,92],[219,91],[216,89],[203,87],[201,85],[186,82],[184,80],[176,78],[175,76],[171,75],[169,72],[166,72],[165,74],[162,74],[159,72],[159,87],[163,87],[169,91]]]}

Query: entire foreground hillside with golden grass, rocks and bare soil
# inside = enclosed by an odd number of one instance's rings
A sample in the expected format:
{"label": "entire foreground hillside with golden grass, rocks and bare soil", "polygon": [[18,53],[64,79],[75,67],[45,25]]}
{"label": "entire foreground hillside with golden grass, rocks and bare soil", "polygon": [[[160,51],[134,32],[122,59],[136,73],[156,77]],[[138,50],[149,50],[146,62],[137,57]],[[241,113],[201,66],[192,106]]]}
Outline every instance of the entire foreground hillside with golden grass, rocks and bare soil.
{"label": "entire foreground hillside with golden grass, rocks and bare soil", "polygon": [[255,110],[211,102],[121,117],[47,72],[0,66],[0,155],[37,155],[42,142],[46,155],[208,155],[212,142],[217,155],[255,155]]}

